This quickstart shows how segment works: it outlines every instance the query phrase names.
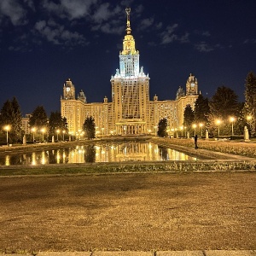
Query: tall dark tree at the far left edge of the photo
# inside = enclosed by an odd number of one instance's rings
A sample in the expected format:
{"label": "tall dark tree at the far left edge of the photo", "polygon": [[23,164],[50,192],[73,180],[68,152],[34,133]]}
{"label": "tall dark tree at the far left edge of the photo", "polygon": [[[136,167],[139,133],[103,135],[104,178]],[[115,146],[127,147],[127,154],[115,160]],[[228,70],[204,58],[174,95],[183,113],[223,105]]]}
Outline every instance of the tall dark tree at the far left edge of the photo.
{"label": "tall dark tree at the far left edge of the photo", "polygon": [[20,112],[20,105],[14,97],[3,104],[0,115],[0,124],[2,126],[9,125],[9,143],[17,143],[22,141],[22,116]]}

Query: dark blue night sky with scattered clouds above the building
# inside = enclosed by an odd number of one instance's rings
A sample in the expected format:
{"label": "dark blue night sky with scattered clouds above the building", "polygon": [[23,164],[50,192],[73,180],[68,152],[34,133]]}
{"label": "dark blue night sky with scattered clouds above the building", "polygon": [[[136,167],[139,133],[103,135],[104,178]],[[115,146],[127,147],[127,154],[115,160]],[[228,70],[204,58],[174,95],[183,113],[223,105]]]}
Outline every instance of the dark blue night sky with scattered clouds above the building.
{"label": "dark blue night sky with scattered clouds above the building", "polygon": [[16,96],[23,115],[38,105],[60,111],[68,78],[87,102],[111,102],[127,6],[150,100],[174,100],[193,73],[203,96],[224,85],[244,101],[256,73],[254,0],[1,0],[0,108]]}

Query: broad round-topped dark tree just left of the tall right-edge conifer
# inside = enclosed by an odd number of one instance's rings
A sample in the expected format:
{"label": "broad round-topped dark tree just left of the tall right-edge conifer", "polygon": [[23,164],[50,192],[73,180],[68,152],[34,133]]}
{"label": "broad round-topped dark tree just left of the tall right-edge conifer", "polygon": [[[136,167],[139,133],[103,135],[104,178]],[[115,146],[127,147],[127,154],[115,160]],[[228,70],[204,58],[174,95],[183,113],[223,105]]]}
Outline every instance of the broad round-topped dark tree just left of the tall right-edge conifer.
{"label": "broad round-topped dark tree just left of the tall right-edge conifer", "polygon": [[213,133],[217,132],[219,125],[216,120],[220,120],[223,134],[230,134],[230,117],[237,117],[239,111],[238,96],[234,90],[228,87],[218,87],[209,102],[209,128]]}

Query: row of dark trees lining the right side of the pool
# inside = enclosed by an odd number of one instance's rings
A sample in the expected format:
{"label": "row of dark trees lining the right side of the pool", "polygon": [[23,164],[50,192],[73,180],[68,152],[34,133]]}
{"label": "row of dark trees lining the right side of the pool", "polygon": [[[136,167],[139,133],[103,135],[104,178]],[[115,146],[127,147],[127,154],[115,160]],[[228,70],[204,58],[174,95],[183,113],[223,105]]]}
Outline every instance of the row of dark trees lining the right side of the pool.
{"label": "row of dark trees lining the right side of the pool", "polygon": [[[195,126],[201,124],[203,131],[217,136],[221,126],[222,135],[233,133],[243,134],[244,126],[255,136],[256,125],[256,76],[253,72],[247,74],[245,84],[245,103],[238,102],[234,90],[220,86],[210,100],[201,94],[195,101],[195,108],[187,105],[183,113],[183,127],[190,134],[194,134]],[[198,129],[198,128],[197,128]],[[158,126],[158,135],[167,136],[167,120],[161,119]]]}

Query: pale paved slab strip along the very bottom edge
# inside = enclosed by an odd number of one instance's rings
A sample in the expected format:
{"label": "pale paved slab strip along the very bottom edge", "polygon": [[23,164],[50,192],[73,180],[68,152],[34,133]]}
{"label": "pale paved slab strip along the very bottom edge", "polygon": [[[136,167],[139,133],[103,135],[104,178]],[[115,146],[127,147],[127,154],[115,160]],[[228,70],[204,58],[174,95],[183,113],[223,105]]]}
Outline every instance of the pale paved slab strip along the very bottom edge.
{"label": "pale paved slab strip along the very bottom edge", "polygon": [[207,251],[157,251],[157,252],[41,252],[41,253],[16,253],[0,256],[256,256],[256,250],[207,250]]}

